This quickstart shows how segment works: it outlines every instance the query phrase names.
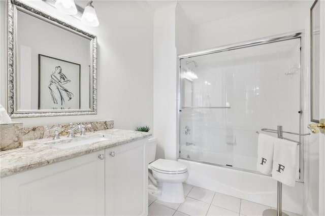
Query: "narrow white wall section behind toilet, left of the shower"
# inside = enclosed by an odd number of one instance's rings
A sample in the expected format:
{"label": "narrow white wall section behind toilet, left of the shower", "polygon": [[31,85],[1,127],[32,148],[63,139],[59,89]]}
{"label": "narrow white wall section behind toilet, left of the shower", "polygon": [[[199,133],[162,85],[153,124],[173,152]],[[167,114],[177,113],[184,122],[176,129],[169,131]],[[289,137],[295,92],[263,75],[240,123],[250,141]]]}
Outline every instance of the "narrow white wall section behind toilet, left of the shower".
{"label": "narrow white wall section behind toilet, left of the shower", "polygon": [[153,135],[156,158],[176,159],[176,3],[156,10],[153,27]]}

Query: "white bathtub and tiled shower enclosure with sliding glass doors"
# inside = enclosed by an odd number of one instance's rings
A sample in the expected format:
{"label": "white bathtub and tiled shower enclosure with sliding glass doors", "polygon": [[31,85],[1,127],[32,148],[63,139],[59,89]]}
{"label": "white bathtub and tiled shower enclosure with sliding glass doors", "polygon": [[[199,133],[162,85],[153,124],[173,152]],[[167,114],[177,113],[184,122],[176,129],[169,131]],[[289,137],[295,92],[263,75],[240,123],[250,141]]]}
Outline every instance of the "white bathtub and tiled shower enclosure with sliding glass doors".
{"label": "white bathtub and tiled shower enclosure with sliding glass doors", "polygon": [[[295,32],[179,55],[179,160],[191,167],[187,183],[276,206],[276,187],[256,170],[255,132],[277,125],[301,131],[303,39]],[[189,79],[188,70],[197,79]],[[304,174],[302,147],[297,182]]]}

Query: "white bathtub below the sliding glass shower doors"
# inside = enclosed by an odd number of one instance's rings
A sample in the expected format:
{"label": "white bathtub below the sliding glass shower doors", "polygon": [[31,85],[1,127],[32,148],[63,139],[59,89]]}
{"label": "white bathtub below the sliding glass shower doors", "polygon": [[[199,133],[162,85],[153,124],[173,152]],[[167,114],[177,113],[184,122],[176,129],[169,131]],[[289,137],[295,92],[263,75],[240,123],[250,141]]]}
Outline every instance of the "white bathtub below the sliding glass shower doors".
{"label": "white bathtub below the sliding glass shower doors", "polygon": [[[216,155],[208,151],[199,151],[195,147],[191,147],[190,152],[186,151],[182,151],[181,154],[184,158],[178,159],[179,162],[187,165],[189,176],[185,182],[186,184],[276,208],[277,181],[272,177],[258,174],[257,172],[242,171],[232,167],[228,168],[224,166],[225,164],[219,166],[193,161],[192,159],[186,158],[187,155],[192,155],[196,159],[215,158],[218,160],[218,158],[226,158],[222,154]],[[247,163],[245,167],[249,165],[255,169],[255,161],[252,163],[252,160],[247,159],[245,162],[245,158],[236,155],[233,158],[234,164],[236,164],[235,161],[237,163],[241,161]],[[237,165],[236,167],[240,167]],[[298,214],[303,213],[303,183],[296,182],[295,187],[282,186],[282,210]]]}

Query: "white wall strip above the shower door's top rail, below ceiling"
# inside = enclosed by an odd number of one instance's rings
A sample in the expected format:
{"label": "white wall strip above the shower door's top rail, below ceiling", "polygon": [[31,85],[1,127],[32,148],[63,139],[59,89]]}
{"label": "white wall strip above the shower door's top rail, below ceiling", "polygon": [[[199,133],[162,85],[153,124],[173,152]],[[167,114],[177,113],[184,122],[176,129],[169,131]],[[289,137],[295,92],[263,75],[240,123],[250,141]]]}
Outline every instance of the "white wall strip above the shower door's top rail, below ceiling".
{"label": "white wall strip above the shower door's top rail, below ceiling", "polygon": [[192,51],[304,29],[309,5],[309,1],[279,1],[266,8],[194,26]]}

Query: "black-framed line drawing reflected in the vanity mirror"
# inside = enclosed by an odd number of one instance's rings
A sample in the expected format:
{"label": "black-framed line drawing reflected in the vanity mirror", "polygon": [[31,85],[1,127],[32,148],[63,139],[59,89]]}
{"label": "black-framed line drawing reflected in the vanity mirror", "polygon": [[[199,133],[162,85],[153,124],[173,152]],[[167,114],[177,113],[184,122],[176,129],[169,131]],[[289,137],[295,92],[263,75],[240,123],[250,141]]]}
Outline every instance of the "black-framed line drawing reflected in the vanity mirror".
{"label": "black-framed line drawing reflected in the vanity mirror", "polygon": [[80,64],[39,54],[39,110],[80,109]]}

